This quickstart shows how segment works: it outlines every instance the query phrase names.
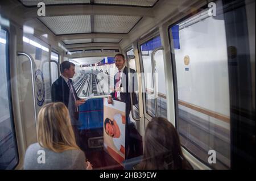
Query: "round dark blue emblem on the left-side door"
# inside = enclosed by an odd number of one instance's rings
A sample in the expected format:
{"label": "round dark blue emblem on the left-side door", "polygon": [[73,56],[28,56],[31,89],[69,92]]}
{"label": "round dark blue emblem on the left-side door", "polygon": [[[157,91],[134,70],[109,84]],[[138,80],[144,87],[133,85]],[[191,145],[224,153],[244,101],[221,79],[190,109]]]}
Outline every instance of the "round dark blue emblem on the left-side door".
{"label": "round dark blue emblem on the left-side door", "polygon": [[36,85],[36,102],[38,106],[44,104],[44,75],[40,69],[36,70],[35,73],[35,85]]}

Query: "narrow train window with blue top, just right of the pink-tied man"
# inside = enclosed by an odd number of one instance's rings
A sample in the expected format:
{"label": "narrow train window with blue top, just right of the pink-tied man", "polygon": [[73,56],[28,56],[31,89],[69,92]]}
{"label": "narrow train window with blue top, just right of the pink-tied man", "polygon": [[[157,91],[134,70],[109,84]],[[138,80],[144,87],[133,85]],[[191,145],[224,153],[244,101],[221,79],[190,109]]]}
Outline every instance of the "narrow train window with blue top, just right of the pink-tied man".
{"label": "narrow train window with blue top, just right of the pink-tied man", "polygon": [[150,116],[166,117],[166,86],[164,82],[163,50],[160,36],[141,45],[146,112]]}

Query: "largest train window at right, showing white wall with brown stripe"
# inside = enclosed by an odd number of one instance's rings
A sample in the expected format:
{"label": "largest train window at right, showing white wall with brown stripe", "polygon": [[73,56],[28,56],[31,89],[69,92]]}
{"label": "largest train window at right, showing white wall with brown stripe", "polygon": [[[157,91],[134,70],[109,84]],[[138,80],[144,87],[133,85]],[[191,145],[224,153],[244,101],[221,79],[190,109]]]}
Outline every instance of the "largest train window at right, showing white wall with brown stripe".
{"label": "largest train window at right, showing white wall with brown stripe", "polygon": [[[223,15],[222,15],[223,16]],[[225,22],[200,12],[169,29],[176,69],[181,144],[213,169],[230,168],[230,106]],[[216,153],[209,164],[208,153]]]}

